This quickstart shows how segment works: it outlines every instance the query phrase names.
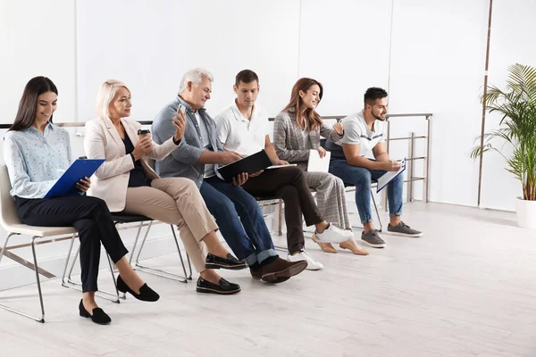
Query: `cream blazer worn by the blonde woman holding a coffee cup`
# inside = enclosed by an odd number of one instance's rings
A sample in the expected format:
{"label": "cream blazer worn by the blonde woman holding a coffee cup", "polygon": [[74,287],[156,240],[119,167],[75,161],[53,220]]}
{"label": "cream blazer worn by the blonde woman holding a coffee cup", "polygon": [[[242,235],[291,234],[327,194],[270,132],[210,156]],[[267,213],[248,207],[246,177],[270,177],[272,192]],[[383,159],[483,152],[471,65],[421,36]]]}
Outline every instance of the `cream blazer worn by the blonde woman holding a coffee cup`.
{"label": "cream blazer worn by the blonde woman holding a coffee cup", "polygon": [[[135,120],[121,119],[126,135],[130,137],[132,145],[138,144],[138,129],[141,124]],[[159,179],[155,170],[147,164],[147,159],[162,160],[169,155],[177,145],[173,137],[153,147],[149,154],[141,159],[141,165],[149,179]],[[117,129],[109,118],[96,118],[86,122],[86,136],[84,137],[84,150],[88,159],[105,159],[106,161],[96,170],[91,178],[91,187],[88,195],[105,200],[110,212],[121,212],[125,208],[127,188],[129,187],[130,170],[134,169],[134,162],[130,154],[126,154]]]}

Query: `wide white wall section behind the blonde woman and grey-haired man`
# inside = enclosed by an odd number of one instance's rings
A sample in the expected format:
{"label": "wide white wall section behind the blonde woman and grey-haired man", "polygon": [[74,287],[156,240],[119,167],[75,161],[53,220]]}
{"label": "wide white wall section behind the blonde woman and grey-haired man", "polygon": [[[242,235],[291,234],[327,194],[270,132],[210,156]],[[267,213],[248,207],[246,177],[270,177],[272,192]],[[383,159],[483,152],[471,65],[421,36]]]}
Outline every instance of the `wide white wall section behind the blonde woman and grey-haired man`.
{"label": "wide white wall section behind the blonde woman and grey-haired man", "polygon": [[[103,11],[106,8],[106,11]],[[182,74],[205,67],[214,74],[215,116],[234,99],[235,75],[249,68],[260,78],[260,103],[279,111],[297,79],[299,1],[79,1],[80,120],[94,118],[105,79],[130,87],[132,118],[153,120],[177,95]],[[203,19],[203,20],[201,20]],[[96,25],[98,24],[98,25]]]}

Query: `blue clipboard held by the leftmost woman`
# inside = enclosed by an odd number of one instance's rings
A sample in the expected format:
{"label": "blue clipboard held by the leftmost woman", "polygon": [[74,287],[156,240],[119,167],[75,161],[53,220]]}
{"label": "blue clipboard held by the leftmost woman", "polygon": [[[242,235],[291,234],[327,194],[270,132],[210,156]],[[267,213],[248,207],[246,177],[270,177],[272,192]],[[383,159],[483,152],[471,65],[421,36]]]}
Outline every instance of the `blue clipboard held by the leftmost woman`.
{"label": "blue clipboard held by the leftmost woman", "polygon": [[76,184],[80,179],[90,178],[103,162],[105,159],[78,159],[72,162],[44,198],[79,195],[80,191],[76,188]]}

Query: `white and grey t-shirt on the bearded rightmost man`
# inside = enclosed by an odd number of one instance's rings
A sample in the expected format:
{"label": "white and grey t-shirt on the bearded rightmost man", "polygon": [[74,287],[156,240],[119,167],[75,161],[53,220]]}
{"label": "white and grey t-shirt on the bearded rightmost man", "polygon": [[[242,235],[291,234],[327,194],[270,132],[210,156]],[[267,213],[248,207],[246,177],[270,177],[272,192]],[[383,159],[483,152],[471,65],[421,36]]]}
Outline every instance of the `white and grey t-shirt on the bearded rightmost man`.
{"label": "white and grey t-shirt on the bearded rightmost man", "polygon": [[386,124],[384,121],[375,120],[373,129],[368,129],[366,121],[364,121],[363,111],[350,114],[348,117],[341,120],[344,127],[344,137],[336,144],[356,145],[359,144],[359,156],[370,157],[373,155],[373,148],[378,143],[385,143]]}

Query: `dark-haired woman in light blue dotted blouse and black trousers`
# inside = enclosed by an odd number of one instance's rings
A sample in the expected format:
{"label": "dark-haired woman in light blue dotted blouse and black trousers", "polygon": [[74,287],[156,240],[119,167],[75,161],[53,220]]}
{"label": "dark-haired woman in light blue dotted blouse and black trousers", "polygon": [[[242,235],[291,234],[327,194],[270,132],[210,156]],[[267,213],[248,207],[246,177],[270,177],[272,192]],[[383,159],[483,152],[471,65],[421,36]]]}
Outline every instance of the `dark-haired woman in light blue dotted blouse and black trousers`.
{"label": "dark-haired woman in light blue dotted blouse and black trousers", "polygon": [[[130,267],[125,258],[127,248],[103,200],[87,195],[44,198],[62,175],[61,170],[71,163],[69,134],[52,123],[57,96],[57,88],[46,77],[30,79],[24,88],[17,116],[4,137],[11,195],[22,223],[78,230],[83,292],[80,316],[105,325],[111,319],[95,302],[101,243],[119,270],[118,282],[121,281],[123,289],[143,301],[156,301],[159,296]],[[80,180],[80,194],[90,185],[88,178]]]}

